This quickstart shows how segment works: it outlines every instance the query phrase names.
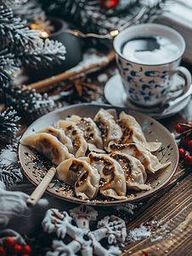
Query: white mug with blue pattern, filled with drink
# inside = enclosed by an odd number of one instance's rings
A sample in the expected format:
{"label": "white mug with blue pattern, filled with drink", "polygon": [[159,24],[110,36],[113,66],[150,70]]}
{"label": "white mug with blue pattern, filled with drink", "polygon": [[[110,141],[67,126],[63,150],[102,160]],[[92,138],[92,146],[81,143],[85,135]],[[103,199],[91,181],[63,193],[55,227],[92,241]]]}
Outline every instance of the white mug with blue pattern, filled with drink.
{"label": "white mug with blue pattern, filled with drink", "polygon": [[[138,41],[146,39],[147,44],[160,42],[159,49],[137,49]],[[154,23],[129,26],[116,36],[113,46],[127,95],[125,103],[130,100],[140,106],[154,107],[168,102],[173,98],[172,79],[176,74],[185,81],[179,96],[189,90],[191,74],[187,68],[179,66],[185,50],[184,38],[171,27]]]}

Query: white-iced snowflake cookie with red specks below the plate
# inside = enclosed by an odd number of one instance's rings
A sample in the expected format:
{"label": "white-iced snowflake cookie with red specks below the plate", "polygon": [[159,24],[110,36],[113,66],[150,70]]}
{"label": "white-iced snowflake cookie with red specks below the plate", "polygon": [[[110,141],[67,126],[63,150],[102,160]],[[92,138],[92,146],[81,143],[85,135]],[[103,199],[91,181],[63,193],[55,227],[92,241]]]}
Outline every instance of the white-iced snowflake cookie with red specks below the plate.
{"label": "white-iced snowflake cookie with red specks below the plate", "polygon": [[[114,215],[106,216],[97,224],[97,230],[89,229],[90,220],[95,220],[98,212],[93,207],[83,206],[71,209],[71,216],[58,209],[49,209],[42,220],[42,228],[48,233],[55,232],[59,240],[53,241],[53,251],[46,256],[115,256],[121,255],[117,244],[125,241],[127,236],[124,220]],[[72,224],[72,220],[76,225]],[[71,236],[71,242],[65,244],[65,236]],[[103,247],[101,240],[106,238],[108,249]],[[116,244],[116,246],[114,246]]]}

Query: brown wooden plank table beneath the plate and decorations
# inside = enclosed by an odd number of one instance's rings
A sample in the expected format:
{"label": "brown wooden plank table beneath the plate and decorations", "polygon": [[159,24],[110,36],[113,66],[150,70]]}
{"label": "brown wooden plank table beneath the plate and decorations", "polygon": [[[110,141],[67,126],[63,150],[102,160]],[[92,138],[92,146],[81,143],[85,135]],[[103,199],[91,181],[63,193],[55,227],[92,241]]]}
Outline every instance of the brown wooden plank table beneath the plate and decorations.
{"label": "brown wooden plank table beneath the plate and decorations", "polygon": [[[104,84],[105,82],[98,81],[100,74],[107,74],[108,79],[113,73],[116,73],[116,63],[112,61],[108,67],[97,73],[88,75],[91,84],[97,86],[96,92],[92,96],[87,97],[87,101],[104,99]],[[85,100],[84,100],[85,101]],[[81,102],[73,100],[74,103]],[[71,102],[71,103],[73,103]],[[65,105],[65,102],[62,102]],[[175,126],[178,123],[186,123],[192,119],[192,102],[184,108],[181,112],[175,114],[167,119],[161,119],[159,122],[165,125],[170,132],[175,131]],[[30,125],[30,121],[24,119],[20,120],[22,130],[20,134],[25,131],[25,128]],[[23,183],[19,184],[16,189],[22,190],[27,194],[31,194],[34,189],[25,177]],[[140,238],[138,241],[127,241],[121,247],[121,255],[141,256],[144,255],[191,255],[192,251],[192,172],[191,167],[184,166],[182,162],[179,163],[178,171],[172,180],[155,195],[138,201],[132,204],[131,208],[123,207],[107,207],[99,208],[99,218],[108,214],[118,214],[127,222],[127,235],[130,235],[130,230],[135,230],[139,225],[147,224],[150,229],[150,236]],[[50,198],[51,195],[43,195],[45,198]],[[59,201],[59,200],[58,200]],[[68,202],[59,201],[62,208],[76,207]],[[129,206],[130,207],[130,206]],[[129,209],[129,210],[127,210]],[[133,211],[133,214],[131,213]],[[149,224],[150,223],[150,224]],[[139,229],[139,228],[138,228]]]}

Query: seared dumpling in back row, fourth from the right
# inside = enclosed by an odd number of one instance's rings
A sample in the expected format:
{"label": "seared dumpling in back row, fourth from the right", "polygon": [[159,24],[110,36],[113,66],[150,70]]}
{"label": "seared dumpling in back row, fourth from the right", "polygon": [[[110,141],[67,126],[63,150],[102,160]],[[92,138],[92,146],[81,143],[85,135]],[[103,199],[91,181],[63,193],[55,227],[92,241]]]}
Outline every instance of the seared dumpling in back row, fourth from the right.
{"label": "seared dumpling in back row, fourth from the right", "polygon": [[83,131],[79,129],[74,122],[59,120],[56,124],[57,129],[63,129],[73,144],[73,154],[76,158],[84,156],[88,149],[88,143],[83,137]]}

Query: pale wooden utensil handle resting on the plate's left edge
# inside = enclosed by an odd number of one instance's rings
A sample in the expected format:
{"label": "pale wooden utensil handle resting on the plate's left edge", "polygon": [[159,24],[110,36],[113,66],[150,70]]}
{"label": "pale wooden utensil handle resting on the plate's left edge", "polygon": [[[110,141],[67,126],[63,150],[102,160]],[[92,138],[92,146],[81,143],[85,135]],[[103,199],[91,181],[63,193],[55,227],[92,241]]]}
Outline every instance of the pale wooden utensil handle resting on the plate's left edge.
{"label": "pale wooden utensil handle resting on the plate's left edge", "polygon": [[37,188],[32,192],[31,196],[27,199],[26,204],[28,207],[33,207],[37,204],[37,201],[42,197],[45,190],[48,188],[48,183],[51,182],[56,169],[52,166],[45,177],[43,177],[41,183],[38,184]]}

